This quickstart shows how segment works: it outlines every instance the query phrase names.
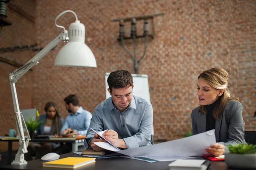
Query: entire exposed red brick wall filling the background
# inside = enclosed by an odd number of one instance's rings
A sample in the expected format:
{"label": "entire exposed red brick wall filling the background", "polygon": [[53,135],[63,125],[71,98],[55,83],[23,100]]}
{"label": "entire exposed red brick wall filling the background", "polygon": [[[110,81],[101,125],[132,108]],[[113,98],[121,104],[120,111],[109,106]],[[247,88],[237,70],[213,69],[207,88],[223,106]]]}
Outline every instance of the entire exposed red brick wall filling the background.
{"label": "entire exposed red brick wall filling the background", "polygon": [[[32,9],[31,4],[28,6]],[[139,67],[140,74],[148,75],[155,139],[181,138],[192,129],[191,110],[198,106],[197,76],[214,66],[229,72],[230,90],[240,98],[244,108],[245,128],[255,131],[255,8],[256,1],[253,0],[77,0],[76,3],[69,0],[38,0],[34,26],[30,24],[28,28],[28,24],[23,22],[25,19],[15,17],[15,12],[10,12],[13,14],[8,17],[15,20],[20,29],[26,30],[22,36],[28,37],[31,33],[35,36],[27,41],[15,39],[6,44],[5,40],[17,36],[17,26],[4,27],[0,46],[21,43],[46,46],[61,32],[54,24],[55,17],[64,10],[76,12],[86,27],[86,43],[93,51],[98,67],[54,66],[55,56],[64,45],[59,43],[40,64],[33,67],[32,72],[17,82],[18,98],[21,106],[36,107],[41,114],[47,101],[55,101],[61,116],[66,117],[63,99],[75,93],[81,106],[93,112],[94,107],[105,99],[105,72],[126,69],[134,73],[131,57],[116,40],[119,23],[111,20],[163,12],[163,16],[154,17],[155,38],[148,40],[146,56]],[[59,18],[58,24],[68,28],[74,19],[73,14],[67,13]],[[127,46],[132,50],[131,41]],[[142,52],[143,40],[137,40],[137,55],[142,55]],[[33,56],[28,54],[25,51],[0,55],[26,63]],[[3,80],[0,121],[13,121],[8,74],[15,68],[6,63],[0,64]],[[14,126],[14,123],[5,125],[0,133],[8,133],[8,129]],[[6,150],[6,147],[0,147],[0,150]]]}

